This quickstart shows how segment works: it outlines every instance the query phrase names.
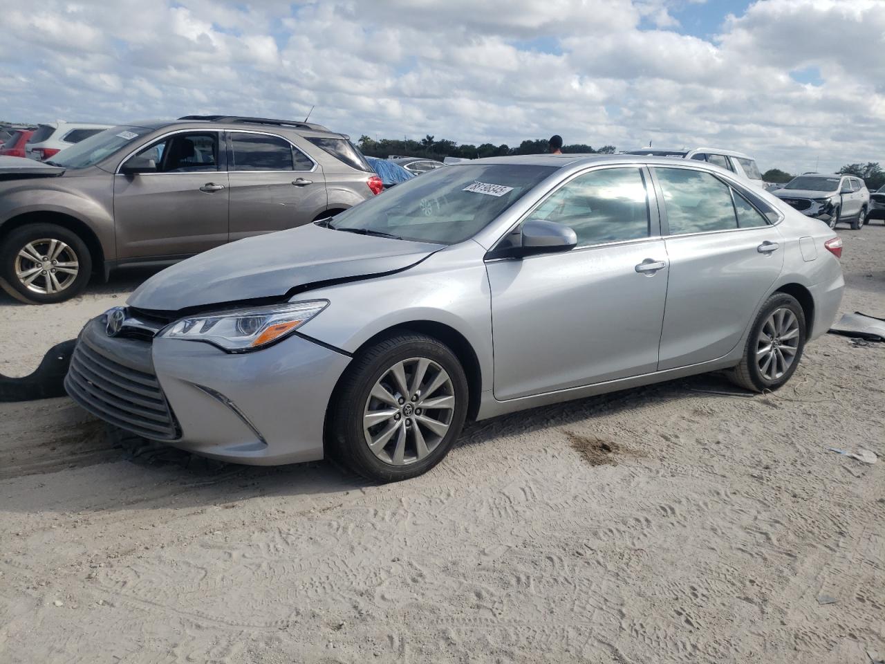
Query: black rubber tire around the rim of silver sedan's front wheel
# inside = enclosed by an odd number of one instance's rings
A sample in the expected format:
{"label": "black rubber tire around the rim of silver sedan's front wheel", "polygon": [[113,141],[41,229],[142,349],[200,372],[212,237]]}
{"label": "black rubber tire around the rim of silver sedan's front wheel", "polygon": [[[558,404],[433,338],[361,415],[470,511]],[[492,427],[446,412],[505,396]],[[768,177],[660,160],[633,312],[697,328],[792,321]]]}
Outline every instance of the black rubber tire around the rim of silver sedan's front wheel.
{"label": "black rubber tire around the rim of silver sedan's front wheel", "polygon": [[[410,359],[428,359],[442,367],[449,375],[454,396],[449,429],[423,459],[408,465],[396,466],[380,459],[366,442],[363,418],[370,393],[376,382],[389,374],[390,367]],[[417,373],[414,372],[414,373]],[[409,376],[411,381],[413,378]],[[405,408],[408,402],[404,402]],[[430,336],[399,332],[361,351],[350,363],[335,390],[329,405],[327,420],[327,452],[342,466],[375,482],[399,482],[426,473],[438,464],[458,439],[467,413],[468,387],[464,368],[449,347]],[[412,410],[408,411],[412,413]],[[415,411],[415,413],[419,413]],[[427,414],[427,413],[425,413]],[[404,413],[398,421],[405,425]],[[411,420],[410,420],[411,421]],[[413,426],[417,427],[418,420]],[[414,445],[414,436],[404,435],[406,445]],[[394,441],[391,438],[391,441]],[[414,449],[414,448],[412,448]]]}

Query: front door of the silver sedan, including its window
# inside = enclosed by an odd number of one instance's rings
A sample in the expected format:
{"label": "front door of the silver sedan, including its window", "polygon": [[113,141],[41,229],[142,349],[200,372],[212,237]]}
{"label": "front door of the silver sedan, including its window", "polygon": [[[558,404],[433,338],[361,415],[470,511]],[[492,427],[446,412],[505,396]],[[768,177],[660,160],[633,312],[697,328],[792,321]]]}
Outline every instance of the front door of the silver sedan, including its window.
{"label": "front door of the silver sedan, including its window", "polygon": [[496,398],[656,369],[667,257],[648,182],[637,166],[578,174],[525,219],[573,228],[575,248],[487,261]]}

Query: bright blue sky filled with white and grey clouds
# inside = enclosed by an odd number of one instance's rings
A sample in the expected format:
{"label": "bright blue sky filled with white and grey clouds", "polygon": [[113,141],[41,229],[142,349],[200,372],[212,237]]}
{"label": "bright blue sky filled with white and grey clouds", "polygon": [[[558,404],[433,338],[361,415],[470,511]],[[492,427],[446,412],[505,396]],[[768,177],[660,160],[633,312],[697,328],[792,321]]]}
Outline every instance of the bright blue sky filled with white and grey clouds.
{"label": "bright blue sky filled with white and grey clouds", "polygon": [[0,0],[0,119],[229,112],[353,135],[885,166],[885,0]]}

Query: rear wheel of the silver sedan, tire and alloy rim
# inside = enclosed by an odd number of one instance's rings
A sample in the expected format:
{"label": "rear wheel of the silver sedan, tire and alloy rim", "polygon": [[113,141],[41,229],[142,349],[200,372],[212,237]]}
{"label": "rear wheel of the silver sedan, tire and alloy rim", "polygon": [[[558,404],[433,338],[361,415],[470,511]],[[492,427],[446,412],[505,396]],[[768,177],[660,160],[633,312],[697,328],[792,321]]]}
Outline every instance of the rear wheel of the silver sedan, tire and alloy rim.
{"label": "rear wheel of the silver sedan, tire and alloy rim", "polygon": [[[779,319],[781,312],[787,313]],[[771,332],[775,334],[772,335]],[[766,336],[774,337],[774,343],[768,344],[770,348],[773,347],[773,351],[762,355],[760,351],[766,351]],[[753,320],[743,359],[732,369],[729,377],[745,390],[777,390],[796,372],[804,347],[805,314],[802,305],[787,293],[774,293],[762,306],[756,320]],[[785,351],[787,348],[792,351]],[[789,352],[793,353],[793,359],[785,366]],[[775,364],[772,365],[771,362]]]}

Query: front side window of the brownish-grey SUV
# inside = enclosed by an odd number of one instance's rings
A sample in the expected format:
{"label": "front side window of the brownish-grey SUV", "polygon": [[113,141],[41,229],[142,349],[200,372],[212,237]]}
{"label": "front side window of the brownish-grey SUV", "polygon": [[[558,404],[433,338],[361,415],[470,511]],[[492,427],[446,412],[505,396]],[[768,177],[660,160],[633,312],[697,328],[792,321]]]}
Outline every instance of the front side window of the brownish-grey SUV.
{"label": "front side window of the brownish-grey SUV", "polygon": [[219,170],[218,133],[176,134],[130,157],[123,165],[130,173],[202,173]]}

